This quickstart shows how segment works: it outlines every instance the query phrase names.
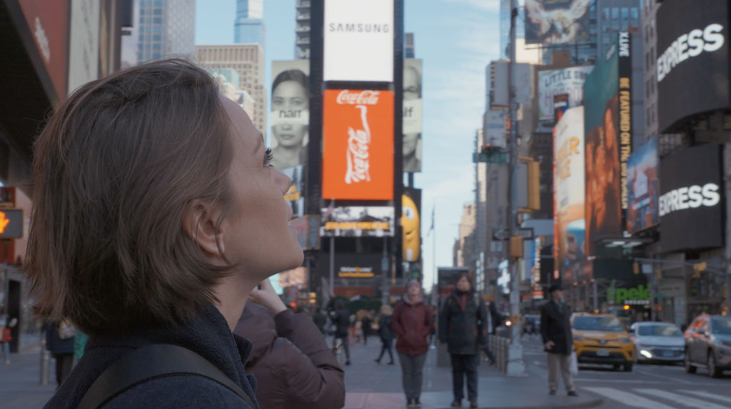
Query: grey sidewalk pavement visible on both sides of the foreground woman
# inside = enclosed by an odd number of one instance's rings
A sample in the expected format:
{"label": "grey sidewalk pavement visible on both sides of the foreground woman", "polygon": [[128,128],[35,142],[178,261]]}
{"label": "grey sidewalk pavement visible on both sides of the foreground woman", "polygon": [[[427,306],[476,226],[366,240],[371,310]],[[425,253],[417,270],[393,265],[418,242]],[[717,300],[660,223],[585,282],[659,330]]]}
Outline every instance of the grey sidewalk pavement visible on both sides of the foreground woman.
{"label": "grey sidewalk pavement visible on both sides of the foreground woman", "polygon": [[[387,354],[381,364],[376,364],[374,359],[380,348],[380,340],[376,337],[370,337],[368,345],[350,345],[352,364],[345,367],[347,394],[344,409],[406,408],[398,356],[394,351],[395,365],[387,365]],[[477,400],[480,408],[578,409],[602,405],[600,397],[581,389],[578,390],[579,397],[567,397],[561,393],[549,396],[545,369],[527,361],[529,375],[522,378],[507,378],[495,367],[480,364]],[[53,368],[52,360],[49,374],[51,384],[39,386],[40,348],[28,348],[22,353],[12,354],[10,365],[0,364],[1,408],[42,408],[56,390]],[[447,408],[452,402],[452,372],[448,367],[436,366],[436,349],[429,351],[424,367],[421,402],[423,409]],[[463,400],[463,404],[467,406],[466,400]]]}

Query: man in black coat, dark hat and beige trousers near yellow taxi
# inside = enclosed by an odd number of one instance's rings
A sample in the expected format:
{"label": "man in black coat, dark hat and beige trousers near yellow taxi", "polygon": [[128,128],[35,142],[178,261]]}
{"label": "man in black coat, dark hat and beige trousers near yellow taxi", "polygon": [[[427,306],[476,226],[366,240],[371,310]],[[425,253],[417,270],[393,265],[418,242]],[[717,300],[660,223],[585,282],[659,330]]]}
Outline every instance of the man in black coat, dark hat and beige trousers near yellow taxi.
{"label": "man in black coat, dark hat and beige trousers near yellow taxi", "polygon": [[571,353],[574,344],[571,335],[571,311],[564,303],[564,290],[553,284],[548,288],[550,301],[541,307],[541,337],[548,359],[548,390],[552,395],[558,389],[558,372],[564,378],[569,396],[577,396],[571,375]]}

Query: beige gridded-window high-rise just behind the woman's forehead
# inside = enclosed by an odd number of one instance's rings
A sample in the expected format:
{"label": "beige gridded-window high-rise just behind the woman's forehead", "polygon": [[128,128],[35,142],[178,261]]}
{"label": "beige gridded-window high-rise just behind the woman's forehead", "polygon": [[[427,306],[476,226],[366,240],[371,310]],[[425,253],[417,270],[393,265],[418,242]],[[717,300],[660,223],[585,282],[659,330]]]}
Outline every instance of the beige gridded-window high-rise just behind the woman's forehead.
{"label": "beige gridded-window high-rise just behind the woman's forehead", "polygon": [[254,98],[254,110],[246,112],[262,134],[266,132],[267,96],[263,85],[264,50],[258,44],[197,45],[196,60],[210,69],[233,69],[238,88]]}

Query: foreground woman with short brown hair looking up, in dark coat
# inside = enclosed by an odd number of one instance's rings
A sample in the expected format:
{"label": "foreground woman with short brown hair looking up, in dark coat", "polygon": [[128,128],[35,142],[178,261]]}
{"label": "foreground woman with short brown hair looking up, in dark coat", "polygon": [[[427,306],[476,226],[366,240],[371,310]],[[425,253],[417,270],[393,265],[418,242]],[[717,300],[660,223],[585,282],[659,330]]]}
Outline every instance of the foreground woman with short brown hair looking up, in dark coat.
{"label": "foreground woman with short brown hair looking up, in dark coat", "polygon": [[[260,131],[205,69],[153,61],[77,88],[34,144],[34,310],[89,335],[45,408],[258,409],[232,334],[303,253]],[[73,343],[69,346],[73,352]]]}

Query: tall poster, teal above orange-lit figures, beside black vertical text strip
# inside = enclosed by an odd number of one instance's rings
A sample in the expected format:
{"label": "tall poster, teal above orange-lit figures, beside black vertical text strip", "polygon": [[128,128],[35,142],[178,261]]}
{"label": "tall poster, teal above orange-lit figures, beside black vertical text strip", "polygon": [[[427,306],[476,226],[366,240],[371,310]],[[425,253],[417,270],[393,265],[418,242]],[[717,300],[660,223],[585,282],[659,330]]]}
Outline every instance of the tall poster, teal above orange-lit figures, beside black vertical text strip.
{"label": "tall poster, teal above orange-lit figures, beside black vertical text strip", "polygon": [[619,164],[619,69],[616,47],[584,83],[586,140],[586,249],[594,255],[596,240],[621,237]]}

